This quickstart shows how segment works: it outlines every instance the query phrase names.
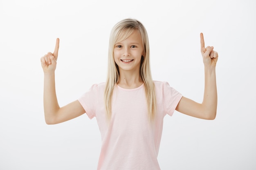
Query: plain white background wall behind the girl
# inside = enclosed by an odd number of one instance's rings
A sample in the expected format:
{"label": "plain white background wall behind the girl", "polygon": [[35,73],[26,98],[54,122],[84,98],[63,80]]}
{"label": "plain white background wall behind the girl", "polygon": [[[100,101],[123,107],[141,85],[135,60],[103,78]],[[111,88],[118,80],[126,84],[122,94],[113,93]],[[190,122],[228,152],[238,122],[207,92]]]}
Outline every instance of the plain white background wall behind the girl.
{"label": "plain white background wall behind the girl", "polygon": [[68,104],[105,82],[110,30],[136,18],[148,31],[153,79],[197,102],[204,91],[200,32],[219,53],[217,117],[166,116],[162,170],[255,170],[255,9],[253,0],[0,0],[0,169],[97,168],[95,118],[45,124],[40,57],[60,38],[56,93]]}

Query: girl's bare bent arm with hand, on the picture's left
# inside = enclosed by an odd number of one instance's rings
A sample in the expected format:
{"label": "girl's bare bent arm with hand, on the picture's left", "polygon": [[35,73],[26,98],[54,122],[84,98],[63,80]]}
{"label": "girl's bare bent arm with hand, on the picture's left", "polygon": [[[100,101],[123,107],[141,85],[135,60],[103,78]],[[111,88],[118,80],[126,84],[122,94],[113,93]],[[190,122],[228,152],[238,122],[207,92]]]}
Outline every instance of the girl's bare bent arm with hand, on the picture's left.
{"label": "girl's bare bent arm with hand, on the picture's left", "polygon": [[59,39],[56,40],[54,53],[47,53],[41,57],[44,71],[44,112],[46,124],[58,124],[85,113],[78,100],[60,108],[55,91],[55,69],[58,58]]}

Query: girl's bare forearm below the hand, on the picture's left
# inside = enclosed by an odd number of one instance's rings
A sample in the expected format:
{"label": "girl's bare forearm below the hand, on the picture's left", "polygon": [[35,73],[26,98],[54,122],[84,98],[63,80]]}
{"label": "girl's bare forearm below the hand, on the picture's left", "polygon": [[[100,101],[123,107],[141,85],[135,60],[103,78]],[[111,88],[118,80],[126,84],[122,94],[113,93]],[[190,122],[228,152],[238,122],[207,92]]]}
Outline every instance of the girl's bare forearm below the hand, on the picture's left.
{"label": "girl's bare forearm below the hand, on the picture's left", "polygon": [[56,115],[58,109],[58,100],[56,97],[55,90],[55,74],[45,73],[44,75],[44,112],[45,112],[45,121],[48,124],[54,116]]}

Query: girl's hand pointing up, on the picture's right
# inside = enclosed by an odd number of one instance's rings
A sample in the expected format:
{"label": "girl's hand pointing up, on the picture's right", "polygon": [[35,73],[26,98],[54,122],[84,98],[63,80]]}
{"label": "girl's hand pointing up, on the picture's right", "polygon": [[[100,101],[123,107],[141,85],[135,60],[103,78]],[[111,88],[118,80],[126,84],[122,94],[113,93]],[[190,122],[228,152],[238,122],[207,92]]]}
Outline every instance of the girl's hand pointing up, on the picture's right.
{"label": "girl's hand pointing up, on the picture's right", "polygon": [[204,66],[216,66],[218,60],[217,51],[213,51],[213,46],[204,46],[204,35],[200,33],[201,53],[203,57]]}

